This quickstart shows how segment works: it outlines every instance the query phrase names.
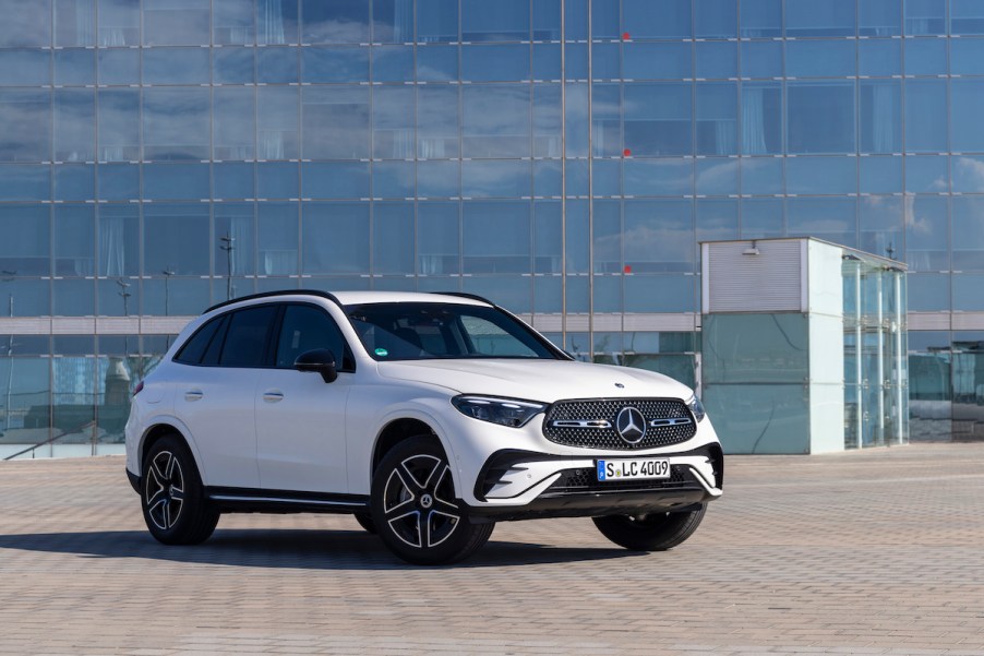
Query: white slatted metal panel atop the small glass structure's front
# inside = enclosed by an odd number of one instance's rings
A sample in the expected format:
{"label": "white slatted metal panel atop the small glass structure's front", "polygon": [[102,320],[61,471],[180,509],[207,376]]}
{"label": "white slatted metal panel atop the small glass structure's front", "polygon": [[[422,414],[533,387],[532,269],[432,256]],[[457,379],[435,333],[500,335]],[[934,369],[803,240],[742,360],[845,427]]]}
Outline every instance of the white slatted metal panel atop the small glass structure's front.
{"label": "white slatted metal panel atop the small glass structure's front", "polygon": [[[801,240],[705,243],[705,312],[801,312]],[[758,254],[754,254],[755,251]]]}

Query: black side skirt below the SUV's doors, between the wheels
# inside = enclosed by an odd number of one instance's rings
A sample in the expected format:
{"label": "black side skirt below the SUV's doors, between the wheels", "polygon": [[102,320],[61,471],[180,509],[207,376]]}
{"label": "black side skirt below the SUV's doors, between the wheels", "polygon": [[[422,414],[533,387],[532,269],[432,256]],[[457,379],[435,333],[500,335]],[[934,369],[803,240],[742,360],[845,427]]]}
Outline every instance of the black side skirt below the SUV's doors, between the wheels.
{"label": "black side skirt below the SUV's doors, between the wheels", "polygon": [[368,494],[206,487],[205,496],[224,513],[351,514],[369,511]]}

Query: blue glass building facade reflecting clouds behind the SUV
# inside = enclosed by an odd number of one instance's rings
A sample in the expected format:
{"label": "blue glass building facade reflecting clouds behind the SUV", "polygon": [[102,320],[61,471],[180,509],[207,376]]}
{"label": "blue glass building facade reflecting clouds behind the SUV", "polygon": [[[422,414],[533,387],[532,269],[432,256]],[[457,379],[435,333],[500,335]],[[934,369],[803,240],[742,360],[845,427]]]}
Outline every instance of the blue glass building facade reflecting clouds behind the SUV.
{"label": "blue glass building facade reflecting clouds behind the SUV", "polygon": [[979,433],[984,2],[0,10],[0,456],[118,450],[268,289],[481,294],[693,384],[698,242],[807,235],[909,265],[912,438]]}

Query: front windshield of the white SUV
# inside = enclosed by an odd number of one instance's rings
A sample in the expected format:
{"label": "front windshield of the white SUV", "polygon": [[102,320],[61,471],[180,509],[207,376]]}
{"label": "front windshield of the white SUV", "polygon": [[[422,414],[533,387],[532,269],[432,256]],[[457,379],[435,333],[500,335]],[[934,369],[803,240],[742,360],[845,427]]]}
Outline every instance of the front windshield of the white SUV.
{"label": "front windshield of the white SUV", "polygon": [[539,358],[561,353],[507,313],[455,303],[365,303],[346,308],[373,359]]}

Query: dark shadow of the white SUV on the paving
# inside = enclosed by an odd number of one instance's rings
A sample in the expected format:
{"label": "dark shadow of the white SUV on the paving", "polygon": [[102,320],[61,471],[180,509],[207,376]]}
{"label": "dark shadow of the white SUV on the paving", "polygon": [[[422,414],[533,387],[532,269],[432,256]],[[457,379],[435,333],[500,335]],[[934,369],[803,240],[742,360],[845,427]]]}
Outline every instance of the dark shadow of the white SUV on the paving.
{"label": "dark shadow of the white SUV on the paving", "polygon": [[[145,530],[0,535],[0,549],[69,553],[83,558],[142,558],[244,568],[399,570],[415,568],[393,556],[374,535],[360,530],[219,529],[208,541],[168,547]],[[453,568],[485,568],[611,560],[641,556],[617,547],[554,547],[490,541]]]}

